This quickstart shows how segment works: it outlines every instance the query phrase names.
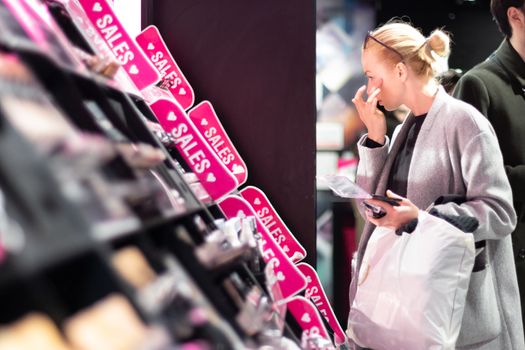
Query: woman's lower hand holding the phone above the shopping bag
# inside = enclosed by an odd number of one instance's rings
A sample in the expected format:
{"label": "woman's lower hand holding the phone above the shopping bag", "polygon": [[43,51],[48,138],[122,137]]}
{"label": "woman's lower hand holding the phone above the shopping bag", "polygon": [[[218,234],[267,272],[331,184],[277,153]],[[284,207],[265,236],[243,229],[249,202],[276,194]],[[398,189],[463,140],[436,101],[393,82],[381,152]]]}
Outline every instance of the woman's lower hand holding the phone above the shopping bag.
{"label": "woman's lower hand holding the phone above the shopping bag", "polygon": [[377,199],[367,199],[366,202],[372,205],[381,207],[386,215],[382,218],[375,219],[372,217],[370,210],[365,210],[367,219],[376,226],[391,228],[393,230],[399,229],[401,226],[409,223],[418,217],[419,208],[409,199],[398,196],[394,192],[386,191],[387,197],[397,198],[400,201],[399,206],[392,206],[384,201]]}

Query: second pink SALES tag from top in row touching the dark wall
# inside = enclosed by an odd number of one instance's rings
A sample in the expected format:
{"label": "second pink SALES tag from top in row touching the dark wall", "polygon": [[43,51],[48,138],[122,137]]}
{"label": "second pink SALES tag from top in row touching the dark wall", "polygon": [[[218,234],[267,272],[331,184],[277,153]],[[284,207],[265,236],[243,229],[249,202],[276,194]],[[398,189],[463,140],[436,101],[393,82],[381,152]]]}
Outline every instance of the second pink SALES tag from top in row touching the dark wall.
{"label": "second pink SALES tag from top in row touching the dark wall", "polygon": [[211,103],[199,103],[188,115],[222,163],[237,178],[239,186],[245,183],[248,178],[246,164],[226,134]]}

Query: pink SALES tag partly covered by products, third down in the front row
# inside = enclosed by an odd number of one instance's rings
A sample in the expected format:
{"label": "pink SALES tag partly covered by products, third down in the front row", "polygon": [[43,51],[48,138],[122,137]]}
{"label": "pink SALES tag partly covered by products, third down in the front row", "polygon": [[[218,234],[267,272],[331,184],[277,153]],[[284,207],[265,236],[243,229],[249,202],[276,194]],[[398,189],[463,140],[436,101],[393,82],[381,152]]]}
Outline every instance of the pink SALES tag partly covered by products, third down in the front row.
{"label": "pink SALES tag partly covered by products, third down in the front row", "polygon": [[272,265],[284,299],[288,299],[306,287],[306,278],[275,243],[246,200],[237,196],[228,196],[219,203],[219,208],[228,219],[238,215],[252,215],[256,218],[257,231],[263,239],[263,259],[266,264]]}

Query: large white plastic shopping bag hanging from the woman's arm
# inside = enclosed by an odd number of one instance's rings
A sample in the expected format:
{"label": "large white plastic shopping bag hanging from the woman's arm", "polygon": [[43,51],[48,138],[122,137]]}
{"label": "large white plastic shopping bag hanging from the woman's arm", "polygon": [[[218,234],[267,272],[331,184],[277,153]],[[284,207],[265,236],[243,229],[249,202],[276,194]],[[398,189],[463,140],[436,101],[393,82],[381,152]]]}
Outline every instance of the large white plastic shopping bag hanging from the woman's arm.
{"label": "large white plastic shopping bag hanging from the woman's arm", "polygon": [[370,237],[347,330],[362,347],[455,348],[474,238],[427,212],[418,220],[411,234],[376,228]]}

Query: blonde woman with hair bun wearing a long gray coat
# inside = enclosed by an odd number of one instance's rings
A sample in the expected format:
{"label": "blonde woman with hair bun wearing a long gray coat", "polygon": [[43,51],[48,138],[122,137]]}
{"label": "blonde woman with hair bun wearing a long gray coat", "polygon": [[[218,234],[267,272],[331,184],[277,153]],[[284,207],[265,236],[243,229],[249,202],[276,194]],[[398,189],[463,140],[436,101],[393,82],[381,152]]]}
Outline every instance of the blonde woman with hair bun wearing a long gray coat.
{"label": "blonde woman with hair bun wearing a long gray coat", "polygon": [[[384,216],[367,220],[357,252],[359,271],[375,226],[410,231],[418,213],[439,196],[461,202],[437,205],[436,215],[468,215],[479,220],[474,236],[484,245],[472,273],[456,349],[525,349],[510,233],[516,225],[512,192],[498,141],[486,118],[448,95],[435,79],[437,56],[449,53],[449,37],[435,30],[428,38],[407,23],[387,23],[370,32],[362,65],[368,83],[353,102],[368,133],[358,141],[357,182],[370,193],[399,200],[398,206],[370,200]],[[366,96],[365,97],[365,92]],[[383,105],[404,104],[410,113],[386,134]],[[350,285],[350,305],[357,288]],[[356,346],[357,347],[357,346]]]}

